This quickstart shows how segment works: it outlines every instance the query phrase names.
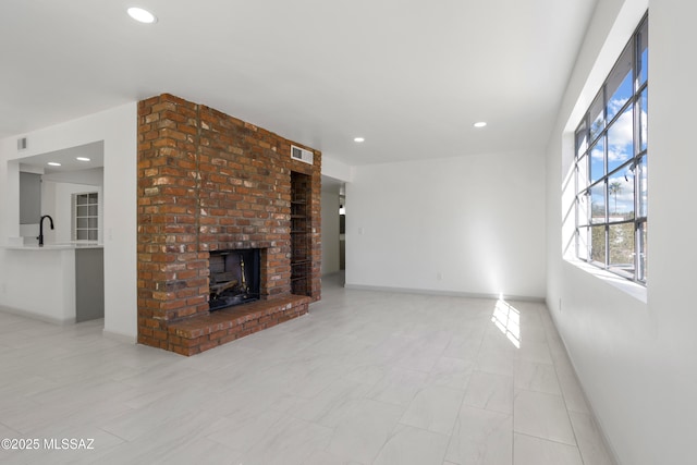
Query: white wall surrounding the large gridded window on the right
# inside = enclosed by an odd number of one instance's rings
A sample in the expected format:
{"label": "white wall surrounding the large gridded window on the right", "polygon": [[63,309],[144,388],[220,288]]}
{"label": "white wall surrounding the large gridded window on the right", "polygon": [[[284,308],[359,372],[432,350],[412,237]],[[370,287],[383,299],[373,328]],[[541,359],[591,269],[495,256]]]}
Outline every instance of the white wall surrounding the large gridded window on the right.
{"label": "white wall surrounding the large gridded window on the right", "polygon": [[[697,3],[650,0],[648,301],[562,257],[573,131],[648,0],[599,3],[548,149],[548,306],[622,465],[694,462],[697,438],[694,108]],[[587,85],[588,84],[588,85]],[[584,108],[585,107],[585,108]]]}

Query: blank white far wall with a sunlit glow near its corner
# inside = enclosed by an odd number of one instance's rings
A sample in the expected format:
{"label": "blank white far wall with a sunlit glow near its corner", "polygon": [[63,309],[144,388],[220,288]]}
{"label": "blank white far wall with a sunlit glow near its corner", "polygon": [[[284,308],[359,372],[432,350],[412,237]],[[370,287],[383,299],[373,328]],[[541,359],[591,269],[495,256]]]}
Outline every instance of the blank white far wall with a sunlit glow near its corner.
{"label": "blank white far wall with a sunlit glow near its corner", "polygon": [[346,285],[545,296],[545,158],[354,167]]}

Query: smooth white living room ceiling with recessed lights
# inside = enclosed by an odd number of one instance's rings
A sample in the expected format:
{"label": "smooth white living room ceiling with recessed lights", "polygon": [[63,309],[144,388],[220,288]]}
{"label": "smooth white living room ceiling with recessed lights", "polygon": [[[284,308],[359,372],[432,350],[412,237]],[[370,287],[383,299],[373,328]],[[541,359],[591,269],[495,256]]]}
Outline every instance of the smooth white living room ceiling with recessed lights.
{"label": "smooth white living room ceiling with recessed lights", "polygon": [[596,3],[3,0],[0,137],[170,93],[347,164],[539,149]]}

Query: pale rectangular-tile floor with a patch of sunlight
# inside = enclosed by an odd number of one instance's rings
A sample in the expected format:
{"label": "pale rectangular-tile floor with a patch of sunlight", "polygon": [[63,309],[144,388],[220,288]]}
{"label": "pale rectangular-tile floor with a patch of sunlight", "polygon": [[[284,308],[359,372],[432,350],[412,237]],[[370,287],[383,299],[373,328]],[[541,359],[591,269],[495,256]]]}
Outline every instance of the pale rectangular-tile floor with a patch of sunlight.
{"label": "pale rectangular-tile floor with a patch of sunlight", "polygon": [[[542,304],[339,279],[309,315],[189,358],[0,313],[0,438],[39,440],[0,462],[612,464]],[[62,439],[93,449],[47,449]]]}

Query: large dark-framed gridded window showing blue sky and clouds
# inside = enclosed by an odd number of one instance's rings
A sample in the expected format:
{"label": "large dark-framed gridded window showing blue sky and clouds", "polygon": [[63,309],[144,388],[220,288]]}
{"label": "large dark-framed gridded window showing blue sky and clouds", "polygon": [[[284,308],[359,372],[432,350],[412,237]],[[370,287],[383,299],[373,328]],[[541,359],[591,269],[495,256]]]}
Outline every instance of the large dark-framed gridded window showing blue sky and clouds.
{"label": "large dark-framed gridded window showing blue sky and clouds", "polygon": [[576,256],[646,284],[648,14],[575,133]]}

